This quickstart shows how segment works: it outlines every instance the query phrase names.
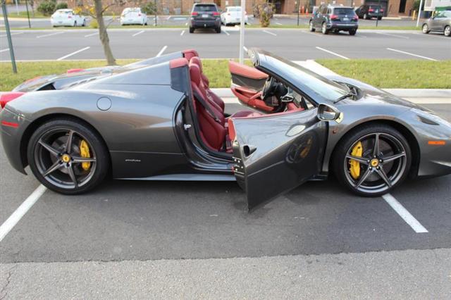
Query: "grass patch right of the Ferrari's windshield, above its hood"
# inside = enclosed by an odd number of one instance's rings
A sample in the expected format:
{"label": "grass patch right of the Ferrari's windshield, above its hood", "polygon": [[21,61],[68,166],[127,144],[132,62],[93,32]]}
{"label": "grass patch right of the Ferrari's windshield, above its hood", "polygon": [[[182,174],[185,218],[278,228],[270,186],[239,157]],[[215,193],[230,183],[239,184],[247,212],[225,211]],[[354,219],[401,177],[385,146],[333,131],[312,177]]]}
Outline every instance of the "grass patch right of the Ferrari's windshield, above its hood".
{"label": "grass patch right of the Ferrari's windshield, above its hood", "polygon": [[451,61],[318,59],[340,75],[382,88],[451,89]]}

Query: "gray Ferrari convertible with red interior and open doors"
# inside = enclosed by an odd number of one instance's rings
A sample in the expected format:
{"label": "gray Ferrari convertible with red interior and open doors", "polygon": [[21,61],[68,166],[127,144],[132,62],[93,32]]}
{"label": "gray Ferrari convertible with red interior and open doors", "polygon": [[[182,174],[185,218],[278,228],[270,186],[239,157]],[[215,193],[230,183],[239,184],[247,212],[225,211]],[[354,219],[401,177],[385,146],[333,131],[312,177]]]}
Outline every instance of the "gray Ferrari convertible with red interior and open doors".
{"label": "gray Ferrari convertible with red interior and open doors", "polygon": [[63,194],[107,175],[236,180],[249,209],[330,173],[364,196],[451,173],[451,124],[428,109],[260,49],[248,55],[254,68],[229,62],[247,106],[233,115],[194,50],[28,80],[1,95],[4,151]]}

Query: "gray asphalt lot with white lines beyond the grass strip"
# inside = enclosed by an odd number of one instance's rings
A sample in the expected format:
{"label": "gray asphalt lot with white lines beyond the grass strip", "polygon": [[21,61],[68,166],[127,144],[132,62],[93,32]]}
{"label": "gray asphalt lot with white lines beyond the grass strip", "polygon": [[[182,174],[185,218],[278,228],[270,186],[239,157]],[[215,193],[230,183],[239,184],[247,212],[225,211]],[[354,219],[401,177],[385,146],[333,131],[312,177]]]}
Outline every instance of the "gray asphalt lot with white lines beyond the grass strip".
{"label": "gray asphalt lot with white lines beyond the grass strip", "polygon": [[[110,30],[116,58],[149,58],[157,54],[195,48],[202,58],[237,58],[239,29],[223,27],[221,34],[185,29]],[[0,60],[9,61],[4,31],[0,35]],[[13,32],[17,60],[103,59],[97,30]],[[451,41],[443,35],[413,31],[360,30],[322,35],[308,30],[248,29],[245,46],[257,46],[294,61],[316,58],[451,59]]]}

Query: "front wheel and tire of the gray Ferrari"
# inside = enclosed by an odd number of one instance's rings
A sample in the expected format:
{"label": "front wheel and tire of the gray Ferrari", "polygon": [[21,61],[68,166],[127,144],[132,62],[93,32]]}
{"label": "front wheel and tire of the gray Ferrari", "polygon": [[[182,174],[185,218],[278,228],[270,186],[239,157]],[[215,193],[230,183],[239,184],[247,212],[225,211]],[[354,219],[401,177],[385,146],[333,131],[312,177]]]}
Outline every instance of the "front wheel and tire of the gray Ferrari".
{"label": "front wheel and tire of the gray Ferrari", "polygon": [[[378,141],[378,147],[374,146]],[[358,144],[358,143],[361,144]],[[352,155],[355,147],[362,147]],[[376,156],[376,157],[375,157]],[[351,171],[352,164],[359,173]],[[381,196],[400,185],[412,163],[409,143],[400,132],[383,124],[356,127],[342,138],[333,154],[333,172],[340,184],[360,196]]]}

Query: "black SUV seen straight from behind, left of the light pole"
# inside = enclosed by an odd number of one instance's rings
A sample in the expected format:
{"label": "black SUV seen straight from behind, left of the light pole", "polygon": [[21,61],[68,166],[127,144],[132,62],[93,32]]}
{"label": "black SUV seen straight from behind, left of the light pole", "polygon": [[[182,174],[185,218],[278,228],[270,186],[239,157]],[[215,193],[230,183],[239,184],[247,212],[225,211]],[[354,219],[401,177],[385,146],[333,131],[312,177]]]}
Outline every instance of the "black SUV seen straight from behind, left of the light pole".
{"label": "black SUV seen straight from behind, left of the light pole", "polygon": [[197,3],[192,6],[190,33],[196,28],[214,28],[221,33],[221,13],[214,3]]}

